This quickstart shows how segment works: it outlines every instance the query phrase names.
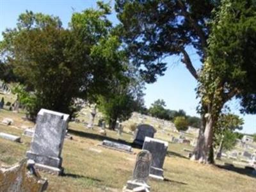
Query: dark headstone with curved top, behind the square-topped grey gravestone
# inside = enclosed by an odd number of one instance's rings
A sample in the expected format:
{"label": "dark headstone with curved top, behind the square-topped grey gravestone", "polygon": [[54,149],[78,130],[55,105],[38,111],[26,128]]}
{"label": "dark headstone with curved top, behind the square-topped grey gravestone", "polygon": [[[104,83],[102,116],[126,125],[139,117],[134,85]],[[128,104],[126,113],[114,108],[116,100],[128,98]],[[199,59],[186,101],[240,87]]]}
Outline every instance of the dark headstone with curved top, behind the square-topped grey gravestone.
{"label": "dark headstone with curved top, behind the square-topped grey gravestone", "polygon": [[142,146],[145,140],[145,137],[154,138],[156,129],[148,124],[138,125],[135,134],[133,143]]}

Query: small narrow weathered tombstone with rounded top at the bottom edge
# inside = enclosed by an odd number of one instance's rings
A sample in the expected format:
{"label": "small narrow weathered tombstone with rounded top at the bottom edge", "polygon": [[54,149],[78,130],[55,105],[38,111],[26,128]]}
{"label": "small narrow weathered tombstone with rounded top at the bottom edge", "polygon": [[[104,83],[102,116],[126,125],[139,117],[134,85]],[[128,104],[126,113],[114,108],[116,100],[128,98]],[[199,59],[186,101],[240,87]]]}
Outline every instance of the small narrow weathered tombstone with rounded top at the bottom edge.
{"label": "small narrow weathered tombstone with rounded top at the bottom edge", "polygon": [[152,156],[148,150],[141,150],[136,158],[136,164],[132,173],[132,180],[128,180],[123,191],[131,191],[136,188],[144,188],[149,190],[147,184],[149,170],[152,163]]}

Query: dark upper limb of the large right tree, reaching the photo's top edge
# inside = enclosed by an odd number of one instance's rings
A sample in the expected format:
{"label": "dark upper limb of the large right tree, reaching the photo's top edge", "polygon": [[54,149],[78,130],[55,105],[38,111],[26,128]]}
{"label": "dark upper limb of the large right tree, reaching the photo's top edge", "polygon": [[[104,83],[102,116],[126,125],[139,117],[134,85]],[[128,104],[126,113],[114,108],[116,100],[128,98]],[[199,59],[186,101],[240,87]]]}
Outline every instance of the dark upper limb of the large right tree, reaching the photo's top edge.
{"label": "dark upper limb of the large right tree, reaching the photo's top edge", "polygon": [[178,1],[180,9],[182,11],[182,15],[189,20],[190,24],[192,25],[192,27],[195,29],[197,35],[200,38],[200,43],[202,45],[202,51],[205,53],[205,48],[207,47],[207,41],[206,41],[206,36],[204,34],[204,31],[202,30],[202,28],[200,28],[200,26],[198,25],[198,23],[196,22],[196,20],[194,20],[191,15],[189,15],[189,13],[186,10],[186,6],[184,5],[184,3],[182,3],[181,0]]}

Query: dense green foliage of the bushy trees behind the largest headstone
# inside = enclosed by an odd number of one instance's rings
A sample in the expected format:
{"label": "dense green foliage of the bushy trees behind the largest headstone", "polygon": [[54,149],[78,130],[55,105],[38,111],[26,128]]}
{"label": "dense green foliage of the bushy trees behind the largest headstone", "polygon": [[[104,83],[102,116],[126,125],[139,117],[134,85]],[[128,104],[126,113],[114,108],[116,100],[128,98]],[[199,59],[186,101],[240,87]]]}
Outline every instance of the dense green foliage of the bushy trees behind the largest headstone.
{"label": "dense green foliage of the bushy trees behind the largest headstone", "polygon": [[120,43],[111,36],[109,11],[108,4],[99,3],[98,10],[74,13],[68,29],[58,17],[26,12],[17,28],[3,33],[5,63],[34,92],[32,116],[40,108],[74,114],[77,97],[95,101],[94,95],[106,93],[105,85],[118,78]]}

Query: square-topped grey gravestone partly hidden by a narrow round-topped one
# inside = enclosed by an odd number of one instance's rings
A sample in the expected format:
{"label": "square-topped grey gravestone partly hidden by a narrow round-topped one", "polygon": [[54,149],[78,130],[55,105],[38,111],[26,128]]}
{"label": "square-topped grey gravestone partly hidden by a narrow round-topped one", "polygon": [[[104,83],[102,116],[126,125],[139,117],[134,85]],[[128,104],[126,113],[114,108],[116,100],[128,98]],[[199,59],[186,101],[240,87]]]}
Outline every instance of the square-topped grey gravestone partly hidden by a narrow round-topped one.
{"label": "square-topped grey gravestone partly hidden by a narrow round-topped one", "polygon": [[154,138],[145,138],[143,150],[148,150],[152,154],[152,164],[150,167],[150,177],[163,180],[163,164],[168,148],[167,141]]}

